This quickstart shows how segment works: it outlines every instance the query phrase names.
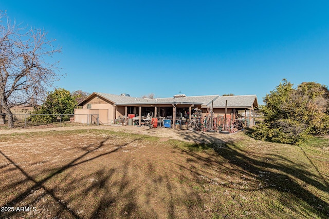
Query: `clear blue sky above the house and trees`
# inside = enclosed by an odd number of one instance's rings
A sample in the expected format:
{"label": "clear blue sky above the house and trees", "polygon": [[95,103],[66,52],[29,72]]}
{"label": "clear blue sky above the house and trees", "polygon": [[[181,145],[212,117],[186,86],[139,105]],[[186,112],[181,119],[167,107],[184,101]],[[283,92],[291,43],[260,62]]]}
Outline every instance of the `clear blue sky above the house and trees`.
{"label": "clear blue sky above the house and trees", "polygon": [[170,97],[329,85],[329,1],[3,1],[62,48],[57,87]]}

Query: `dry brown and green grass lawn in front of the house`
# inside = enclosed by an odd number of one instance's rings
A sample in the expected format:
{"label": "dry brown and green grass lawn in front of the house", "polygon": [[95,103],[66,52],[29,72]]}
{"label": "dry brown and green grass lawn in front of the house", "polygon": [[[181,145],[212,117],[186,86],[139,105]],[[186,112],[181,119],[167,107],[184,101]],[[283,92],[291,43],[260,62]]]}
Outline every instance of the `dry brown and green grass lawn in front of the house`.
{"label": "dry brown and green grass lawn in front of the house", "polygon": [[328,139],[92,128],[0,131],[0,217],[329,218]]}

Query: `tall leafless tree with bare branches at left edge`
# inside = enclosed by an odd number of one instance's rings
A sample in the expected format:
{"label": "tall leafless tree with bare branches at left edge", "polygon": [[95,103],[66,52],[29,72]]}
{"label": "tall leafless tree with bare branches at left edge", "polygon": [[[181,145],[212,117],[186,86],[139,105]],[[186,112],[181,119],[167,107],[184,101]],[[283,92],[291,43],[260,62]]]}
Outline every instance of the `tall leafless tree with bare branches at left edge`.
{"label": "tall leafless tree with bare branches at left edge", "polygon": [[44,99],[47,88],[61,76],[55,72],[58,62],[49,62],[61,50],[54,49],[46,36],[44,30],[11,23],[0,11],[0,113],[7,114],[10,128],[10,108]]}

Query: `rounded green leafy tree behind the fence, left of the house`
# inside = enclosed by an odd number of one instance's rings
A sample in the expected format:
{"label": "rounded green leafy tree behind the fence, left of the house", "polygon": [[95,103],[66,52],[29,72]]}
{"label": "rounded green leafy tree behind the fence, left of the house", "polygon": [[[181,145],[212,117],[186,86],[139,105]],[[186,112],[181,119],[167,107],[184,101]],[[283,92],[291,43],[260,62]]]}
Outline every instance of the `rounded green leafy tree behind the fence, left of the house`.
{"label": "rounded green leafy tree behind the fence, left of the house", "polygon": [[[74,114],[74,109],[77,107],[77,101],[71,96],[68,90],[63,88],[55,89],[50,92],[44,104],[35,108],[33,114],[51,114],[51,115],[32,115],[32,122],[56,122],[59,114]],[[62,121],[69,121],[69,115],[63,115]]]}

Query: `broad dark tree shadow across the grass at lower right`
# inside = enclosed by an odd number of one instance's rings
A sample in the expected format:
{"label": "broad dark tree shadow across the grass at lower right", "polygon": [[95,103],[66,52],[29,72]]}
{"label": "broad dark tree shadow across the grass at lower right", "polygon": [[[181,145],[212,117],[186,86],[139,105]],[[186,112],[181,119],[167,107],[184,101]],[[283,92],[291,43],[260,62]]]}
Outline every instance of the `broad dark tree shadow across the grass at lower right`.
{"label": "broad dark tree shadow across the grass at lower right", "polygon": [[[207,136],[207,135],[206,135]],[[190,135],[187,135],[186,138],[191,140]],[[196,142],[199,142],[199,138],[192,139]],[[282,202],[283,206],[286,206],[290,210],[294,210],[298,215],[303,215],[305,217],[312,218],[314,215],[309,214],[308,212],[313,212],[320,218],[329,217],[329,203],[328,199],[325,198],[323,200],[320,196],[316,196],[314,193],[303,188],[304,186],[311,185],[316,187],[317,189],[324,192],[324,194],[329,194],[328,182],[319,172],[318,168],[312,163],[309,157],[306,155],[305,151],[303,151],[304,156],[306,156],[307,160],[310,162],[310,165],[315,169],[314,172],[317,172],[318,175],[307,170],[306,167],[296,167],[296,163],[293,161],[289,161],[287,157],[283,157],[281,155],[276,154],[264,154],[262,157],[257,157],[252,155],[250,151],[244,151],[240,149],[239,146],[236,145],[233,141],[221,141],[211,139],[211,136],[207,139],[210,141],[210,144],[194,144],[189,146],[187,149],[180,148],[181,152],[189,154],[193,159],[198,161],[202,161],[204,163],[208,163],[212,166],[217,166],[218,168],[227,167],[224,166],[225,163],[230,164],[230,166],[235,166],[236,169],[234,171],[240,172],[240,175],[249,175],[252,176],[255,181],[259,181],[263,186],[260,188],[252,188],[252,189],[242,189],[245,191],[255,191],[255,190],[264,190],[271,189],[277,190],[281,194],[281,202],[285,200],[287,202]],[[220,147],[217,147],[220,145]],[[213,155],[209,155],[207,157],[200,156],[199,153],[196,153],[193,148],[213,148],[215,152],[222,159],[218,159],[218,157],[214,157]],[[297,147],[297,146],[292,146]],[[220,161],[218,161],[220,160]],[[281,161],[280,161],[281,160]],[[285,161],[284,164],[282,163]],[[193,160],[190,160],[193,162]],[[281,162],[281,163],[280,163]],[[195,166],[188,168],[184,166],[182,168],[186,168],[187,171],[194,172],[196,175],[207,174],[203,169],[198,169]],[[232,170],[228,170],[232,172]],[[268,177],[264,177],[264,175]],[[296,182],[296,178],[303,182],[303,185],[298,184]],[[302,208],[307,211],[301,212],[299,208],[291,204],[289,198],[294,197],[294,201],[304,202],[307,205],[304,205]],[[290,205],[291,204],[291,205]],[[270,215],[269,215],[270,216]]]}

